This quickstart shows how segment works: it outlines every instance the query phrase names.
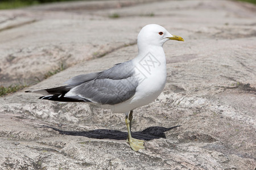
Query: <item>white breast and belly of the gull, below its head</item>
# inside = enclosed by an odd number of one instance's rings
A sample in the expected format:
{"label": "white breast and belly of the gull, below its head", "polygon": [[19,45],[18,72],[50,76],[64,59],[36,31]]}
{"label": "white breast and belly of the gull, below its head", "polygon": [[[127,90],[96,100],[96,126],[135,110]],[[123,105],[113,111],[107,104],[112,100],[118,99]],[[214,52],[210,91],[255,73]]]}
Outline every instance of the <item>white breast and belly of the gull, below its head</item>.
{"label": "white breast and belly of the gull, below its head", "polygon": [[143,58],[135,58],[135,76],[139,81],[135,95],[114,105],[114,113],[126,113],[154,101],[166,84],[166,57],[163,53],[147,53]]}

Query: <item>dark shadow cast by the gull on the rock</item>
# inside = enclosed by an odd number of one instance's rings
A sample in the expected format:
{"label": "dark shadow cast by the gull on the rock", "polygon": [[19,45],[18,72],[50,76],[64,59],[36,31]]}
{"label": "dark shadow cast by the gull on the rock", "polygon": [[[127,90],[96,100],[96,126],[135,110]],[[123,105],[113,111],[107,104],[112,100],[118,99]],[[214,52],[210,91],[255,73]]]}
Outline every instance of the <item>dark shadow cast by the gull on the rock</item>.
{"label": "dark shadow cast by the gull on the rock", "polygon": [[[152,126],[146,128],[142,131],[134,131],[131,133],[133,138],[142,139],[145,141],[150,141],[152,139],[166,138],[164,134],[165,131],[179,127],[180,125],[173,126],[171,128],[164,128],[160,126]],[[50,126],[40,126],[39,128],[51,128],[55,131],[59,131],[60,134],[72,135],[72,136],[81,136],[94,139],[115,139],[115,140],[125,140],[128,133],[119,131],[119,130],[110,130],[110,129],[97,129],[90,131],[65,131],[57,128],[52,128]]]}

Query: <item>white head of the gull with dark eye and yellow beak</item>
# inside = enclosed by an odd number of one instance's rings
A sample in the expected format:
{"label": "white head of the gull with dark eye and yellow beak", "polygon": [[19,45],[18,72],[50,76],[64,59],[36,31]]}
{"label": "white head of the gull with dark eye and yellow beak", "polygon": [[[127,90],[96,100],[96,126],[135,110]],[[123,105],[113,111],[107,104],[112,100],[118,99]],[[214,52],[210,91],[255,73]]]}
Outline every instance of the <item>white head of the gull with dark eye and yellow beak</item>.
{"label": "white head of the gull with dark eye and yellow beak", "polygon": [[171,35],[158,24],[148,24],[139,32],[138,46],[163,46],[164,42],[168,40],[184,41],[180,36]]}

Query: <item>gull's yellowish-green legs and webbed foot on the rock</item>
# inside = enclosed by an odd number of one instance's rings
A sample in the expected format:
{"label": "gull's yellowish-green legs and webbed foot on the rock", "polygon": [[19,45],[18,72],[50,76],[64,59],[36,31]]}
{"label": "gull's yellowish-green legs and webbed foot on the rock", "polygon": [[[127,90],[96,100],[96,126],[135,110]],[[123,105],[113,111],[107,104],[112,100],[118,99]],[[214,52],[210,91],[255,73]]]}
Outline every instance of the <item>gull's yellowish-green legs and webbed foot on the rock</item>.
{"label": "gull's yellowish-green legs and webbed foot on the rock", "polygon": [[131,137],[131,120],[133,120],[133,111],[130,112],[129,118],[128,118],[128,116],[125,117],[125,123],[126,123],[127,131],[128,131],[127,142],[130,144],[130,147],[134,151],[138,151],[139,149],[144,148],[144,146],[143,146],[144,141]]}

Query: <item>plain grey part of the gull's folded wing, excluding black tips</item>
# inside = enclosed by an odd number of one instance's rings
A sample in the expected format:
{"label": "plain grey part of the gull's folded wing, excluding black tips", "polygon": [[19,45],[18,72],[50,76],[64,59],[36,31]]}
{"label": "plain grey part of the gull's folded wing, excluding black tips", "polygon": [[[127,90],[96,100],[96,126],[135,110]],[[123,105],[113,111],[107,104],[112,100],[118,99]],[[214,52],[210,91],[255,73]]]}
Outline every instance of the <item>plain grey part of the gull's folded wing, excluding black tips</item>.
{"label": "plain grey part of the gull's folded wing, excluding black tips", "polygon": [[138,80],[134,74],[131,61],[119,63],[102,71],[97,78],[72,88],[65,97],[85,99],[99,104],[118,104],[135,94]]}

